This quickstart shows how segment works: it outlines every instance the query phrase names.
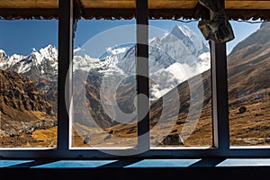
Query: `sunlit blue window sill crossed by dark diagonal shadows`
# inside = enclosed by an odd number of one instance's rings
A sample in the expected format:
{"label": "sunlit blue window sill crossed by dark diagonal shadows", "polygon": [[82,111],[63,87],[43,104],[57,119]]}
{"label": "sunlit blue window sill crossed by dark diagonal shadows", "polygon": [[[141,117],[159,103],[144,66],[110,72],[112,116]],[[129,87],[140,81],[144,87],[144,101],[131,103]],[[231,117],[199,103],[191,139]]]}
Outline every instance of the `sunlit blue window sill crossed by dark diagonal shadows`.
{"label": "sunlit blue window sill crossed by dark diagonal shadows", "polygon": [[123,158],[123,159],[40,159],[40,160],[17,160],[0,159],[0,169],[2,168],[170,168],[170,167],[232,167],[232,166],[269,166],[270,158]]}

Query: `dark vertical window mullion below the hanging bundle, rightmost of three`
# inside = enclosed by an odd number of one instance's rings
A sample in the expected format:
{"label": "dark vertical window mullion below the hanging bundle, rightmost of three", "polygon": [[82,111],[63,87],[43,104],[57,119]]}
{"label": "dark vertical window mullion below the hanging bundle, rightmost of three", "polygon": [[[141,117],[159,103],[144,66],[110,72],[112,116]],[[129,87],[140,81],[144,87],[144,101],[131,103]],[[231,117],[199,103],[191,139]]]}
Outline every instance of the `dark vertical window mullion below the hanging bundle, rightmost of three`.
{"label": "dark vertical window mullion below the hanging bundle, rightmost of three", "polygon": [[[225,7],[221,0],[221,8]],[[212,16],[212,14],[211,14]],[[213,146],[229,148],[229,102],[226,42],[211,41]]]}

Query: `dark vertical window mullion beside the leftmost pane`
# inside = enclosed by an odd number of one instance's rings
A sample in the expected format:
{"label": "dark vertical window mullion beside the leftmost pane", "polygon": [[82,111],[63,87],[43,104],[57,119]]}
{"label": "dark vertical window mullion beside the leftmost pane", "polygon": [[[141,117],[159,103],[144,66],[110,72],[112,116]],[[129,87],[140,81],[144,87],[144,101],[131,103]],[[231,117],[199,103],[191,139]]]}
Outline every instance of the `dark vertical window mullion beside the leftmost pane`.
{"label": "dark vertical window mullion beside the leftmost pane", "polygon": [[[73,52],[73,0],[59,0],[58,19],[58,150],[69,148]],[[72,66],[71,66],[72,67]],[[66,81],[67,79],[67,81]],[[67,83],[67,85],[66,85]],[[67,88],[66,88],[67,87]]]}

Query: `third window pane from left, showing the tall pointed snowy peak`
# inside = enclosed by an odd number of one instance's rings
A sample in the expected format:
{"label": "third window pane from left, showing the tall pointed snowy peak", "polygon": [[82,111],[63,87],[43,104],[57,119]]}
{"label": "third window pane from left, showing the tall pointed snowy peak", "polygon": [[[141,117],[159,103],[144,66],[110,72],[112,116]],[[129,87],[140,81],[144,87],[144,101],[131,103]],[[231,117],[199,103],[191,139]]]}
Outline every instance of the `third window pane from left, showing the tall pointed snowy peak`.
{"label": "third window pane from left, showing the tall pointed snowy peak", "polygon": [[197,23],[149,21],[151,148],[212,145],[210,49]]}

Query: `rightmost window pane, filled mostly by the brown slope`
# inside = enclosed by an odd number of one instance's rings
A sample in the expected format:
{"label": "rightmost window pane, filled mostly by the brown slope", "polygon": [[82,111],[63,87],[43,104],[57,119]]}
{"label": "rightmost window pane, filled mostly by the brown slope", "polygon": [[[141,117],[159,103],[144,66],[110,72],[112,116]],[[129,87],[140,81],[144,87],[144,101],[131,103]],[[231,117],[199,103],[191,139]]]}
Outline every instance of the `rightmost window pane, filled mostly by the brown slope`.
{"label": "rightmost window pane, filled mostly by the brown slope", "polygon": [[228,55],[230,145],[269,145],[270,23],[232,22],[232,27],[242,40],[228,44],[233,47]]}

